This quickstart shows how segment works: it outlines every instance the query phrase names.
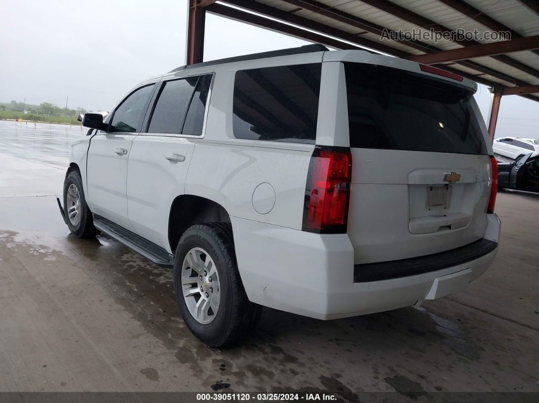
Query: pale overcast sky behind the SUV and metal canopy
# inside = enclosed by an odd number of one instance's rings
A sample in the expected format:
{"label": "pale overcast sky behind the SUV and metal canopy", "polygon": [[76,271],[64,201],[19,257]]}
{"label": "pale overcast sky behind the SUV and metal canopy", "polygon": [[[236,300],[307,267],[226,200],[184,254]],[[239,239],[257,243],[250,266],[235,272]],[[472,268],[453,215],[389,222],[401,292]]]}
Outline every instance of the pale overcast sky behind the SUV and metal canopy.
{"label": "pale overcast sky behind the SUV and metal canopy", "polygon": [[[188,0],[0,1],[0,102],[108,110],[137,82],[185,64]],[[306,44],[206,17],[204,60]],[[476,95],[484,117],[490,94]],[[502,98],[496,137],[539,138],[539,103]]]}

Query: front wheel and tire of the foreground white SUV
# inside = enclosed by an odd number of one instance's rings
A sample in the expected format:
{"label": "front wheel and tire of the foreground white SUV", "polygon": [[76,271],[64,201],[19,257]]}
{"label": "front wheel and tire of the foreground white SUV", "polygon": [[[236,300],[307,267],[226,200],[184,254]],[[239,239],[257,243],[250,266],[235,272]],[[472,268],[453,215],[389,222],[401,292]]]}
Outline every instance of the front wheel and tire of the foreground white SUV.
{"label": "front wheel and tire of the foreground white SUV", "polygon": [[92,238],[99,234],[94,227],[92,211],[86,204],[79,171],[71,171],[64,181],[64,214],[67,227],[78,238]]}

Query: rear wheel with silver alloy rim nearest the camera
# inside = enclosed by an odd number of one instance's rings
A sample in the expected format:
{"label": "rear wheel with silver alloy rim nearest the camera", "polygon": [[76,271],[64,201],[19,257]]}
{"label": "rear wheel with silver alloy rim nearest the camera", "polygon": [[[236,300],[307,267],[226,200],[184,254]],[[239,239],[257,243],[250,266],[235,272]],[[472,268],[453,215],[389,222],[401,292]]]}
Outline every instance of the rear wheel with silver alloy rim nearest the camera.
{"label": "rear wheel with silver alloy rim nearest the camera", "polygon": [[191,332],[210,347],[243,338],[262,307],[248,300],[241,282],[229,223],[193,225],[174,258],[179,312]]}

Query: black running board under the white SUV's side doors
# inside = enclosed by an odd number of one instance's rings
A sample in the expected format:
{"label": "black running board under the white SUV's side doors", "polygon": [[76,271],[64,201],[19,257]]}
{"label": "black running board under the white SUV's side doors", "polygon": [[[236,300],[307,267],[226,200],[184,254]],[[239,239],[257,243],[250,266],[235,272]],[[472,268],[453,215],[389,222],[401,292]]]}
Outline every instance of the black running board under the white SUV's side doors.
{"label": "black running board under the white SUV's side doors", "polygon": [[161,248],[161,246],[148,241],[148,239],[136,235],[134,232],[126,230],[120,227],[120,225],[96,214],[94,214],[94,225],[101,232],[105,232],[105,234],[116,239],[116,241],[120,241],[135,252],[142,254],[142,256],[150,259],[158,266],[174,266],[174,256]]}

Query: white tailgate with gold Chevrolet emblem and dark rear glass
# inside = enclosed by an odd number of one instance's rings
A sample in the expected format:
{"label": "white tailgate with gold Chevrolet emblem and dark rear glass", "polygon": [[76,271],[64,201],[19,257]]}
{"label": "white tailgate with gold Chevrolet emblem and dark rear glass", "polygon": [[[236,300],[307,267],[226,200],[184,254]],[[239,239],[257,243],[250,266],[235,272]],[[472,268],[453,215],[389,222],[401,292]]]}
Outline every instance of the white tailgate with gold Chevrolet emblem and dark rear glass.
{"label": "white tailgate with gold Chevrolet emblem and dark rear glass", "polygon": [[490,160],[469,88],[344,63],[355,263],[405,259],[483,237]]}

